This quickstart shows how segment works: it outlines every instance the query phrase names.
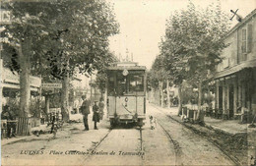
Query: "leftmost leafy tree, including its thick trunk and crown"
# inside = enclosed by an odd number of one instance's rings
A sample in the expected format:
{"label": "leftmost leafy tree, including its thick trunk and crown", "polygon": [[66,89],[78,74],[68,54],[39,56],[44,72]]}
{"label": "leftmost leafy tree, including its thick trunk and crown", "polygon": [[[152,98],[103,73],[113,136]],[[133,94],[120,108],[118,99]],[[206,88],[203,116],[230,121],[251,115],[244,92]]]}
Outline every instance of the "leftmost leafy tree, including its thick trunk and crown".
{"label": "leftmost leafy tree, including its thick trunk and crown", "polygon": [[[34,48],[40,45],[45,36],[44,29],[46,27],[41,24],[39,18],[41,13],[38,11],[46,11],[47,7],[44,2],[38,3],[19,3],[19,2],[3,2],[1,8],[10,10],[12,13],[12,24],[5,28],[5,36],[8,40],[5,42],[6,51],[4,58],[10,59],[10,68],[20,73],[21,97],[20,97],[20,117],[28,117],[30,110],[30,75],[31,69],[37,63]],[[37,49],[37,51],[41,51]],[[7,57],[9,56],[9,57]]]}

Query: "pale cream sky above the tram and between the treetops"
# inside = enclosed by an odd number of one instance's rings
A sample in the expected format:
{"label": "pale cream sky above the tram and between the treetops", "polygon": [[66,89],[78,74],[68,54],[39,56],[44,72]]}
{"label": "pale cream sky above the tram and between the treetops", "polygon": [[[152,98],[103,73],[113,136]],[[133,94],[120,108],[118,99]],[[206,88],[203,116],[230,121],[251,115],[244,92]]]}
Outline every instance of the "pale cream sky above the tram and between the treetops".
{"label": "pale cream sky above the tram and between the treetops", "polygon": [[[175,11],[186,9],[188,0],[107,0],[113,4],[120,33],[109,38],[110,50],[117,57],[126,57],[127,51],[133,61],[150,69],[160,53],[160,38],[165,23]],[[243,18],[256,8],[256,0],[220,0],[222,10],[232,16],[231,9],[238,9]],[[191,0],[196,6],[206,8],[217,0]],[[232,20],[232,26],[237,24]]]}

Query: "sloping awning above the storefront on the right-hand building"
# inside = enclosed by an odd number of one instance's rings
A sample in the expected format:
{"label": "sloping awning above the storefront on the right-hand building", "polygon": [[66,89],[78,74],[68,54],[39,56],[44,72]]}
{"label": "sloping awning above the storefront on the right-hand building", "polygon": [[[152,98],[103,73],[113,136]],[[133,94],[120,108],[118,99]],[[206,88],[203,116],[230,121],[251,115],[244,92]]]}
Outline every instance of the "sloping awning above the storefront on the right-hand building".
{"label": "sloping awning above the storefront on the right-hand building", "polygon": [[222,72],[218,72],[218,73],[216,73],[214,79],[220,79],[220,78],[232,75],[232,74],[239,72],[245,68],[256,68],[256,59],[247,61],[247,62],[246,61],[242,62],[241,64],[233,66],[233,67],[226,69]]}

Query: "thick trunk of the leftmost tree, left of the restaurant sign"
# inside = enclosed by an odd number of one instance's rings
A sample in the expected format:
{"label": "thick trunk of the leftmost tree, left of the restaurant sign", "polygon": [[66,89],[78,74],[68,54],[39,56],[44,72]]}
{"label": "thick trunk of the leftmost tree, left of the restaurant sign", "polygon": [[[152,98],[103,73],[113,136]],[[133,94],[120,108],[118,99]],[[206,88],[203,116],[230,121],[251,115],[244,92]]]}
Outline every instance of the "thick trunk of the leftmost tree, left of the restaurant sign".
{"label": "thick trunk of the leftmost tree, left of the restaurant sign", "polygon": [[20,86],[21,86],[21,97],[20,97],[20,112],[19,117],[27,118],[30,114],[30,99],[31,99],[31,83],[30,83],[30,58],[28,55],[24,55],[22,48],[18,49],[20,57]]}

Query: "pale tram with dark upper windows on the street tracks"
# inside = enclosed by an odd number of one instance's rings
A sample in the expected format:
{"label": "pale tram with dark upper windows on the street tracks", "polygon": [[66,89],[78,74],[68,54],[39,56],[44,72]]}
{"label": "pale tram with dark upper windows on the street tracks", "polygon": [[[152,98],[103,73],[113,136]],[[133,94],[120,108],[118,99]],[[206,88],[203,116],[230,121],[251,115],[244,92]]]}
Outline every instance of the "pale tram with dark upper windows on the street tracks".
{"label": "pale tram with dark upper windows on the street tracks", "polygon": [[107,114],[112,127],[146,119],[146,67],[135,62],[118,62],[107,68]]}

